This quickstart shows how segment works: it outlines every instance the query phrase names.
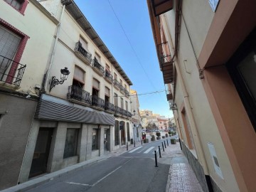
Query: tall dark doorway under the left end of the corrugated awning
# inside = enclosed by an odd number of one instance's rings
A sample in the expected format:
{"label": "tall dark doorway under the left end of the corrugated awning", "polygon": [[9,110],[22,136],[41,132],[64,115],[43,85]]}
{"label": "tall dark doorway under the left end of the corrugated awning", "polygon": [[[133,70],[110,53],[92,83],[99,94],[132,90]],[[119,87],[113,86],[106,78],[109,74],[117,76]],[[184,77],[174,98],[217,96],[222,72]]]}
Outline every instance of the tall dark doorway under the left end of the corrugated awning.
{"label": "tall dark doorway under the left end of the corrugated awning", "polygon": [[46,173],[52,136],[52,128],[39,129],[28,178]]}

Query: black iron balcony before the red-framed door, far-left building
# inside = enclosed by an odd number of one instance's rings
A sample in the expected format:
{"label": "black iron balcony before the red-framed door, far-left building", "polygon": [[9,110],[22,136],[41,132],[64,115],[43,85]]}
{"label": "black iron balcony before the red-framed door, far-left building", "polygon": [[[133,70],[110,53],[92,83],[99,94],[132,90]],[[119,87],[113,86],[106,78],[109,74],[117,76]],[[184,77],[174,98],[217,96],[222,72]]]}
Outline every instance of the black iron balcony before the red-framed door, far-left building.
{"label": "black iron balcony before the red-framed door, far-left building", "polygon": [[18,90],[25,69],[26,65],[0,55],[0,90]]}

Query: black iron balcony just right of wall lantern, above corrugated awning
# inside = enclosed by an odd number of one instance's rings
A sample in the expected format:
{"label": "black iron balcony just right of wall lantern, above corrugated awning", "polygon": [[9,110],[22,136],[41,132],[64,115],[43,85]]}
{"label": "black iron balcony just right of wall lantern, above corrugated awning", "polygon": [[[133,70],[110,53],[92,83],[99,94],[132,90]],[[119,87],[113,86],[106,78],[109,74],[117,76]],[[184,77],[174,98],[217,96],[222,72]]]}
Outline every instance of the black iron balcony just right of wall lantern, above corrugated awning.
{"label": "black iron balcony just right of wall lantern, above corrugated awning", "polygon": [[75,85],[68,87],[67,99],[70,102],[75,102],[85,106],[90,106],[92,103],[90,100],[90,93]]}

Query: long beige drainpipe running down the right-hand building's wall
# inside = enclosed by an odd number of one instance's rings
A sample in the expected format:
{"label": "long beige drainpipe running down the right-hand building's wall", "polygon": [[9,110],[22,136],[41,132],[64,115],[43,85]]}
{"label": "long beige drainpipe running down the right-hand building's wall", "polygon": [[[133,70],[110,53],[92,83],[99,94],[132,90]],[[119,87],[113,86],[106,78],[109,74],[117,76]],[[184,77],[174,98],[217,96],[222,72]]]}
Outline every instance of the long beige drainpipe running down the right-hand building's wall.
{"label": "long beige drainpipe running down the right-hand building's wall", "polygon": [[[164,15],[164,19],[163,19],[164,23],[166,26],[168,26],[168,23],[166,22],[166,16]],[[169,28],[169,27],[168,27]],[[175,50],[174,49],[174,44],[173,44],[173,41],[172,41],[172,38],[171,38],[171,33],[170,31],[168,30],[168,33],[166,33],[169,37],[169,45],[171,46],[171,50]],[[177,58],[177,56],[176,56]],[[188,112],[188,118],[191,120],[191,129],[193,131],[193,142],[195,143],[196,145],[196,152],[198,153],[198,156],[199,157],[202,157],[202,158],[198,158],[198,160],[201,162],[202,166],[203,166],[203,171],[206,175],[209,174],[209,171],[208,171],[208,166],[206,164],[206,156],[203,152],[203,147],[202,147],[202,142],[201,142],[201,139],[199,137],[199,134],[198,134],[198,129],[196,127],[196,122],[195,122],[195,119],[193,117],[193,112],[192,112],[192,107],[191,107],[191,104],[188,100],[188,92],[186,90],[186,85],[185,85],[185,82],[183,80],[183,75],[181,73],[181,69],[178,65],[178,61],[177,59],[174,60],[174,65],[176,67],[176,71],[177,71],[177,75],[179,77],[181,77],[181,90],[183,92],[183,95],[184,95],[184,105],[186,106],[186,111]]]}

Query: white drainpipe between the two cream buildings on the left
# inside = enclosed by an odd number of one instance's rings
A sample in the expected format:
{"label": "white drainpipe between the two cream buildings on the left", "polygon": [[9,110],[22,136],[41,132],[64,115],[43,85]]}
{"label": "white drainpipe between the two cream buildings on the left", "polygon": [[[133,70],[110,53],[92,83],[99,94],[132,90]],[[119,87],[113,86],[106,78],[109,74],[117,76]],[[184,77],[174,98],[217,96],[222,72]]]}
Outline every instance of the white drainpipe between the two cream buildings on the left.
{"label": "white drainpipe between the two cream buildings on the left", "polygon": [[54,46],[53,46],[53,52],[51,53],[51,57],[50,57],[49,68],[48,68],[48,70],[46,70],[46,79],[45,79],[44,87],[43,87],[45,91],[46,91],[46,87],[48,85],[48,78],[49,78],[49,75],[50,75],[50,68],[53,65],[53,59],[54,59],[55,50],[56,50],[56,46],[57,46],[58,38],[59,38],[59,33],[60,33],[60,24],[61,24],[61,21],[62,21],[62,18],[63,18],[64,11],[65,11],[65,5],[63,6],[63,10],[61,11],[60,21],[59,21],[58,26],[57,26],[56,38],[55,38],[55,42],[54,42]]}

